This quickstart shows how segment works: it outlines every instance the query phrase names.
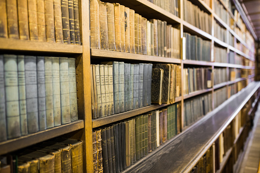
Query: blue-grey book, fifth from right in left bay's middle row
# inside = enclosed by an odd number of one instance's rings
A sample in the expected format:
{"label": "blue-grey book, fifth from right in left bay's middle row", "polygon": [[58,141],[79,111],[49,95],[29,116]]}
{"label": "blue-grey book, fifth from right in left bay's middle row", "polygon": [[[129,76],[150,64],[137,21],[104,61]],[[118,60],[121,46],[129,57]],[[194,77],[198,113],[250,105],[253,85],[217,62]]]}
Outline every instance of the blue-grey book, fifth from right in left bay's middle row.
{"label": "blue-grey book, fifth from right in left bay's middle row", "polygon": [[45,101],[45,75],[44,57],[37,57],[37,90],[39,130],[46,130],[46,101]]}

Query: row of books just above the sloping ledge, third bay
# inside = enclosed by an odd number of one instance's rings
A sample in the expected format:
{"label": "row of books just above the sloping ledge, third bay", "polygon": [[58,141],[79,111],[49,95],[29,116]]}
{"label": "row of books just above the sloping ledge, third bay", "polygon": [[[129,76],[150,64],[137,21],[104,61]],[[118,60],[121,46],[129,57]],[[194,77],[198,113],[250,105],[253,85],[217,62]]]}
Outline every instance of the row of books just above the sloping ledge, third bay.
{"label": "row of books just above the sloping ledge, third bay", "polygon": [[183,126],[189,126],[198,118],[212,111],[211,93],[200,95],[184,101]]}

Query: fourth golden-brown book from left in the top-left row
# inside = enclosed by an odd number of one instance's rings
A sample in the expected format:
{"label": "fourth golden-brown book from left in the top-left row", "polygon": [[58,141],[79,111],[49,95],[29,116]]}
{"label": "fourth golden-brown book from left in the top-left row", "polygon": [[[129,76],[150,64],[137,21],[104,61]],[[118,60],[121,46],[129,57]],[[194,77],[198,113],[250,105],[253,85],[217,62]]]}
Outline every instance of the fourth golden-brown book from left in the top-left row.
{"label": "fourth golden-brown book from left in the top-left row", "polygon": [[39,39],[37,23],[37,0],[28,0],[28,16],[30,40],[37,41]]}

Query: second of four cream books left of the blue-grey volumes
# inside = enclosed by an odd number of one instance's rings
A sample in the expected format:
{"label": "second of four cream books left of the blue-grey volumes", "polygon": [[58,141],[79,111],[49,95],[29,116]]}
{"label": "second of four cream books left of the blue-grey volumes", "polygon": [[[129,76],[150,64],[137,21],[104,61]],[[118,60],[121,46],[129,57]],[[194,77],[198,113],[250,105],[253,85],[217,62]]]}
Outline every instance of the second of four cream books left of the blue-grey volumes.
{"label": "second of four cream books left of the blue-grey volumes", "polygon": [[107,116],[104,65],[99,65],[99,72],[100,72],[101,106],[102,106],[101,111],[102,111],[102,117],[104,117]]}

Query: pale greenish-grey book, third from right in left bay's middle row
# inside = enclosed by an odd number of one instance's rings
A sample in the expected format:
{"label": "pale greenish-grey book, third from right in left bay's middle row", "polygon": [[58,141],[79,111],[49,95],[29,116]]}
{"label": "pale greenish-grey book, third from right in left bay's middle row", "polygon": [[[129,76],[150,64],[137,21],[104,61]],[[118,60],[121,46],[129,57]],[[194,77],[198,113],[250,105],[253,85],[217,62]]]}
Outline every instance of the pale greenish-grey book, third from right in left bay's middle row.
{"label": "pale greenish-grey book, third from right in left bay's middle row", "polygon": [[59,58],[58,57],[52,57],[52,77],[53,77],[54,126],[60,126],[61,125],[60,66],[59,66]]}

